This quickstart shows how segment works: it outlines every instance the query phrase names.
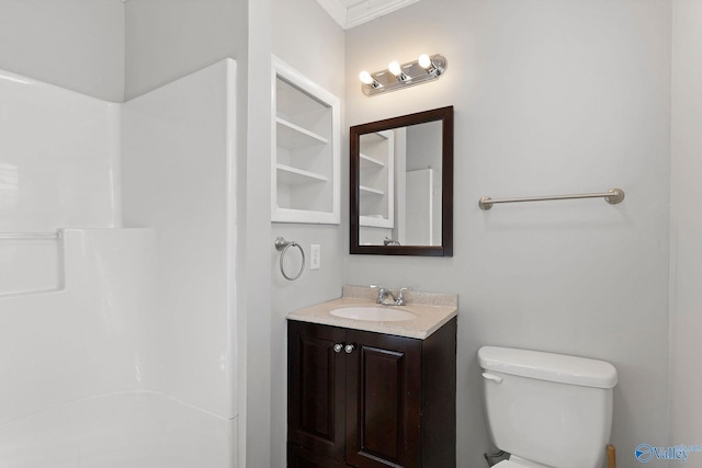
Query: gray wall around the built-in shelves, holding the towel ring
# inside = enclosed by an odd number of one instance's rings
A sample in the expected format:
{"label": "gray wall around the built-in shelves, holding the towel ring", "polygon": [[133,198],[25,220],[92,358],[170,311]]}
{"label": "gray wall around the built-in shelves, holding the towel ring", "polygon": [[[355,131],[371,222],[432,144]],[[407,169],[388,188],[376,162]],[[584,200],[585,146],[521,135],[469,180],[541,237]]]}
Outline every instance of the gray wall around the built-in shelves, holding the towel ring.
{"label": "gray wall around the built-in shelves, holding the towel ring", "polygon": [[[315,81],[327,91],[337,95],[341,104],[341,168],[348,167],[348,126],[343,122],[344,95],[344,33],[315,0],[271,0],[272,53],[291,67]],[[270,94],[270,93],[269,93]],[[270,110],[270,105],[269,105]],[[265,155],[262,155],[264,158]],[[269,158],[270,164],[270,158]],[[270,170],[270,165],[268,165]],[[343,173],[343,172],[342,172]],[[268,191],[267,175],[263,190]],[[348,176],[341,178],[341,193],[348,192]],[[343,199],[343,198],[342,198]],[[261,209],[270,208],[261,202]],[[348,250],[343,244],[347,230],[349,204],[341,204],[341,225],[299,225],[275,222],[271,226],[271,236],[265,239],[268,266],[271,283],[271,409],[272,409],[272,445],[271,467],[285,466],[285,440],[287,427],[286,391],[287,391],[287,349],[286,321],[287,312],[301,307],[322,303],[341,296],[343,258]],[[269,222],[270,225],[270,222]],[[294,239],[303,248],[309,259],[309,246],[321,246],[321,269],[307,269],[303,276],[288,282],[280,273],[279,252],[273,249],[273,239],[283,236]],[[308,261],[309,262],[309,261]],[[309,263],[307,264],[309,266]],[[263,466],[263,465],[260,465]]]}

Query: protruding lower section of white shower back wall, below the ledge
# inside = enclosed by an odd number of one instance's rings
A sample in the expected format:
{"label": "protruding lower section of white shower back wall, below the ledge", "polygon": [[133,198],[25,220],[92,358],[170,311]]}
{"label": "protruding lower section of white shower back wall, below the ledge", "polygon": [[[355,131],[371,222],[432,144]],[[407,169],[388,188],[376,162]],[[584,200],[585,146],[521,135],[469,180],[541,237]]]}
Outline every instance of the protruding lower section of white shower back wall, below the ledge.
{"label": "protruding lower section of white shower back wall, below the ledge", "polygon": [[152,232],[66,229],[60,244],[64,287],[0,297],[0,426],[141,388],[138,328],[150,305]]}

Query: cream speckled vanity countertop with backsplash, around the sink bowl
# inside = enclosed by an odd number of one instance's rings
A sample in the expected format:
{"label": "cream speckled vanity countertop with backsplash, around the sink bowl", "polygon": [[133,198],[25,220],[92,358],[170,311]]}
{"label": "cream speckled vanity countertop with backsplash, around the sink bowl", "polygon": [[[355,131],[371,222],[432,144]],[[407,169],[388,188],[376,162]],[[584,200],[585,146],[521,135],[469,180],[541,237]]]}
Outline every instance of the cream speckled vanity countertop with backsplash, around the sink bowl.
{"label": "cream speckled vanity countertop with backsplash, around the sink bowl", "polygon": [[404,321],[371,321],[332,316],[331,310],[343,307],[378,307],[375,304],[376,290],[370,287],[344,286],[339,299],[294,310],[287,315],[287,320],[424,340],[458,313],[456,295],[407,290],[404,296],[405,306],[385,307],[407,310],[417,318]]}

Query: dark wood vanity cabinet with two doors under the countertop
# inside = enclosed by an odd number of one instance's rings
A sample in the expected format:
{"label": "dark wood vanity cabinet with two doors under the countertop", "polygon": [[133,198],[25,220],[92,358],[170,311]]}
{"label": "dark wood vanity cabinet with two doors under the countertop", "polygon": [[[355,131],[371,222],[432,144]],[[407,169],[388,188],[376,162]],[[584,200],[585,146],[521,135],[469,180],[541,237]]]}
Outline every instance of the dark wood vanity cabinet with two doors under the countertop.
{"label": "dark wood vanity cabinet with two doors under the countertop", "polygon": [[426,340],[288,321],[288,468],[453,468],[456,319]]}

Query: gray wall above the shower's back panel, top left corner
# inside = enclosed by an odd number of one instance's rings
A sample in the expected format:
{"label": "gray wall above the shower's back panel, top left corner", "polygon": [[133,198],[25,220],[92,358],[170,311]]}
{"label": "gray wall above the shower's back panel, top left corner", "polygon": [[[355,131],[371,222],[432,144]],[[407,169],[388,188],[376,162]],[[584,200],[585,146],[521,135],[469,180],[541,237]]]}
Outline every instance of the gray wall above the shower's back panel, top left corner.
{"label": "gray wall above the shower's back panel, top left corner", "polygon": [[118,0],[0,1],[0,69],[122,102],[124,4]]}

